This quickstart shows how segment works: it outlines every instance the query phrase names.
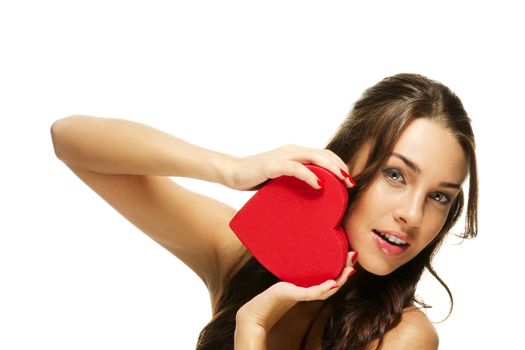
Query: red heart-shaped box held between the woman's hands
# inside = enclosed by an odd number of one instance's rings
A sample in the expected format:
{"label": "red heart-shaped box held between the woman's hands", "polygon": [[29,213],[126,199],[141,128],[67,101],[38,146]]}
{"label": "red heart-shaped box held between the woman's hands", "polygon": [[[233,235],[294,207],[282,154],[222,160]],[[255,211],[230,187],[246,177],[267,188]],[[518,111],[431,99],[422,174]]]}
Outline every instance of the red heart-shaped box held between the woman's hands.
{"label": "red heart-shaped box held between the woman's hands", "polygon": [[281,176],[257,191],[230,221],[237,237],[268,271],[301,287],[337,278],[348,254],[340,226],[347,188],[328,170],[306,166],[321,179],[322,189]]}

